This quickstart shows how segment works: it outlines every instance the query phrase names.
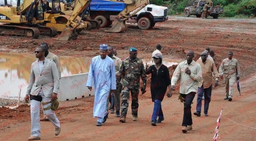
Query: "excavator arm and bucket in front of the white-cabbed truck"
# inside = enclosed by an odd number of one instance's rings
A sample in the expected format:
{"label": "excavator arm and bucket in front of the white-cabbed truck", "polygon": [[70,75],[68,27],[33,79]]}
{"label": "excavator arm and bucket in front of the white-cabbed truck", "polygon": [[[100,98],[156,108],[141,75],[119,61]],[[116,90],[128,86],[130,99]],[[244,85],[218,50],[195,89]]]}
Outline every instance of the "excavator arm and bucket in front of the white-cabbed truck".
{"label": "excavator arm and bucket in front of the white-cabbed truck", "polygon": [[[113,26],[106,30],[105,32],[119,33],[126,31],[127,27],[125,25],[125,20],[130,18],[130,16],[135,15],[138,11],[143,9],[148,5],[148,0],[106,0],[111,2],[122,2],[126,4],[126,7],[117,15],[117,19],[114,20]],[[130,12],[134,11],[132,15]]]}

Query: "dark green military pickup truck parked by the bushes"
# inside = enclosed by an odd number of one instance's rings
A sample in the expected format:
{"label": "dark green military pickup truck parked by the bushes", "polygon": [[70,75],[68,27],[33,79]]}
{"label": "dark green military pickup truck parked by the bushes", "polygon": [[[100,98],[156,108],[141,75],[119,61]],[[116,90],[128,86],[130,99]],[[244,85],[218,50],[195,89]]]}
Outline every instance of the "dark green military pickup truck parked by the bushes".
{"label": "dark green military pickup truck parked by the bushes", "polygon": [[[190,15],[196,15],[198,18],[201,17],[204,9],[204,3],[206,0],[196,0],[193,3],[193,6],[188,6],[184,9],[184,13],[186,17]],[[218,18],[219,14],[223,13],[223,7],[210,7],[207,10],[207,16],[212,16],[213,18]],[[206,16],[206,17],[207,17]]]}

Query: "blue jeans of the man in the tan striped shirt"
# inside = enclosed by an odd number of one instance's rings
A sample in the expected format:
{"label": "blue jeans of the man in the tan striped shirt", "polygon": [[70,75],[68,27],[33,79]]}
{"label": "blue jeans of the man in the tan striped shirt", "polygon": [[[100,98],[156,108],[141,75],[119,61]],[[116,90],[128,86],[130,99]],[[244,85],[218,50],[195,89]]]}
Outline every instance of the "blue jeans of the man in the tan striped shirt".
{"label": "blue jeans of the man in the tan striped shirt", "polygon": [[209,88],[205,88],[205,89],[203,85],[201,87],[198,87],[197,112],[201,112],[202,97],[204,95],[204,114],[208,114],[208,108],[211,102],[211,89],[212,89],[212,85]]}

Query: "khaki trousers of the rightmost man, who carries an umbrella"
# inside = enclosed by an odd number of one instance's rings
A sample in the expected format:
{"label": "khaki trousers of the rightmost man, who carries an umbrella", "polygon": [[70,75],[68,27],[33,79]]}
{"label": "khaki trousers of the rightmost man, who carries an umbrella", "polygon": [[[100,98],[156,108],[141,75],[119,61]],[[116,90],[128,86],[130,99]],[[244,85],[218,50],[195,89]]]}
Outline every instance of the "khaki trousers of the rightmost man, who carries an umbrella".
{"label": "khaki trousers of the rightmost man, who carries an umbrella", "polygon": [[224,77],[226,96],[228,98],[233,97],[234,84],[236,82],[236,76],[232,76],[230,78]]}

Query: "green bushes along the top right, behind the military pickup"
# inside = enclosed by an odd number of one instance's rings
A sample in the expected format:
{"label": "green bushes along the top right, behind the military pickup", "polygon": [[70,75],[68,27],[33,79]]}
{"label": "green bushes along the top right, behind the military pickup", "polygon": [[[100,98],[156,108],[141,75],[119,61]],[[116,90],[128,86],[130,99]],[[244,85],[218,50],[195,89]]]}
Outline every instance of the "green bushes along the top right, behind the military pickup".
{"label": "green bushes along the top right, behind the military pickup", "polygon": [[[168,7],[168,15],[184,13],[184,8],[191,6],[195,0],[150,0],[150,4]],[[256,17],[256,0],[213,0],[213,6],[220,4],[222,17]]]}

